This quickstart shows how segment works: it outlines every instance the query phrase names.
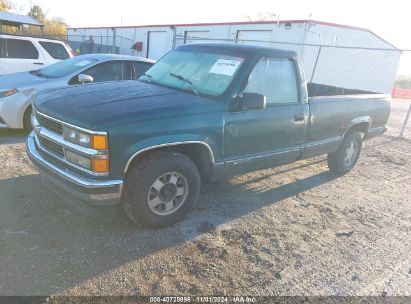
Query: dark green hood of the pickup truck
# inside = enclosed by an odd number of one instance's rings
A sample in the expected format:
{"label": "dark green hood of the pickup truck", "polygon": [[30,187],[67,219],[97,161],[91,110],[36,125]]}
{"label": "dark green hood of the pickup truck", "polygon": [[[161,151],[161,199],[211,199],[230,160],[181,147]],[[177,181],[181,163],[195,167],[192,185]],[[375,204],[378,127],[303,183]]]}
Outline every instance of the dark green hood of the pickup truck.
{"label": "dark green hood of the pickup truck", "polygon": [[167,87],[140,81],[116,81],[41,91],[33,102],[37,111],[90,130],[150,118],[207,111],[221,104]]}

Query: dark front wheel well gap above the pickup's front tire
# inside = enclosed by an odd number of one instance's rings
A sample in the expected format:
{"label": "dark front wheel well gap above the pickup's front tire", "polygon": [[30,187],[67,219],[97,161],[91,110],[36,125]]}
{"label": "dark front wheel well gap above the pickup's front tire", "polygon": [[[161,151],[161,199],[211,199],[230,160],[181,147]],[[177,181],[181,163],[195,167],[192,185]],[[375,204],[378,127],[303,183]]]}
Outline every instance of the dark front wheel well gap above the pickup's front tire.
{"label": "dark front wheel well gap above the pickup's front tire", "polygon": [[137,154],[127,167],[127,170],[131,168],[134,164],[139,162],[146,155],[153,153],[154,151],[169,151],[169,152],[179,152],[188,158],[190,158],[196,165],[201,178],[209,179],[212,174],[212,152],[209,147],[201,143],[187,143],[179,145],[170,145],[164,147],[157,147],[142,153]]}

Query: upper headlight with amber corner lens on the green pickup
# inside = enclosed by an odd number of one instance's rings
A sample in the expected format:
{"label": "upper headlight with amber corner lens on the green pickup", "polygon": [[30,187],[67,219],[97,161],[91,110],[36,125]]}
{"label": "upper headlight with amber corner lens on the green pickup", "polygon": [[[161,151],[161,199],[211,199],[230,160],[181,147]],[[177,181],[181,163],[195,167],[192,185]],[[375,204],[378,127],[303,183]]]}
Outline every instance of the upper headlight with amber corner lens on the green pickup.
{"label": "upper headlight with amber corner lens on the green pickup", "polygon": [[72,143],[96,150],[107,150],[107,135],[87,134],[69,127],[63,127],[63,138]]}

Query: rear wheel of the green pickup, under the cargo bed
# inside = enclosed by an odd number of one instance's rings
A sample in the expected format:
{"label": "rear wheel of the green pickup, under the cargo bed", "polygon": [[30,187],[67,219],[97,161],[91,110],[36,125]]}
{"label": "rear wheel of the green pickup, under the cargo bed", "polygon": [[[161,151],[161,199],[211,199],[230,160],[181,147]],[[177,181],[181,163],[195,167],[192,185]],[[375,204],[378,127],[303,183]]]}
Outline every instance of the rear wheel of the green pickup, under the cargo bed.
{"label": "rear wheel of the green pickup, under the cargo bed", "polygon": [[[354,168],[360,157],[362,147],[362,133],[353,132],[347,134],[337,151],[328,154],[328,168],[339,175],[346,174]],[[354,149],[353,155],[349,158],[347,152]],[[349,158],[349,161],[347,161]]]}

